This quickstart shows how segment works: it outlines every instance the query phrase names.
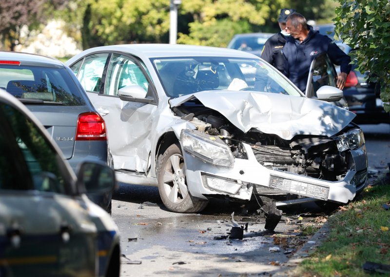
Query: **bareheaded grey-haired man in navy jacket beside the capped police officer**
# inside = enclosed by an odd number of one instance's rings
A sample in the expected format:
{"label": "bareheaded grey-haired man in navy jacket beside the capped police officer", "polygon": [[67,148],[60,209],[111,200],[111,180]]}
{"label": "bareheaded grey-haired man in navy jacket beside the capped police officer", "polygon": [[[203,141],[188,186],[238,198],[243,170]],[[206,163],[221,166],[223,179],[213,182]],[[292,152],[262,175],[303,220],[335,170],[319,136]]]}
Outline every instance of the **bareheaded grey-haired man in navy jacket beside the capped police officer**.
{"label": "bareheaded grey-haired man in navy jacket beside the capped police officer", "polygon": [[302,92],[305,92],[312,60],[317,55],[326,52],[334,64],[340,65],[340,74],[336,85],[343,89],[348,74],[351,71],[351,58],[345,54],[328,36],[314,31],[306,24],[306,19],[298,13],[292,13],[286,21],[287,39],[283,49],[285,57],[284,75],[289,78]]}

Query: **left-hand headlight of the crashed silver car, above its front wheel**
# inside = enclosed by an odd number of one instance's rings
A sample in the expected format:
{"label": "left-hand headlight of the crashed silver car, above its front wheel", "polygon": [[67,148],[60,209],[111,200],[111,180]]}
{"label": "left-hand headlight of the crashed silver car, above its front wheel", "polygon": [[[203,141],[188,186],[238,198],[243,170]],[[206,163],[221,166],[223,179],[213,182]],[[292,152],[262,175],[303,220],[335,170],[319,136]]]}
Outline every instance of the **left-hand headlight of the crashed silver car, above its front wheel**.
{"label": "left-hand headlight of the crashed silver car, above its front wheel", "polygon": [[182,130],[180,139],[184,151],[188,154],[214,165],[233,167],[232,151],[219,137],[193,130]]}

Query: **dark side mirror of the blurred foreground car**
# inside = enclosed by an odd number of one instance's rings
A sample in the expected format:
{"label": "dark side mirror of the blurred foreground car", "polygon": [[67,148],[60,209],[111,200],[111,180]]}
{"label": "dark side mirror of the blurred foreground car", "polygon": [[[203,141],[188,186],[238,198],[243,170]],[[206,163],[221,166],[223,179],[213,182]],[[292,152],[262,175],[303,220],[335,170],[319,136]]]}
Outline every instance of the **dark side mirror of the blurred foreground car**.
{"label": "dark side mirror of the blurred foreground car", "polygon": [[78,188],[85,188],[88,194],[105,194],[115,189],[115,172],[105,163],[85,161],[77,174]]}

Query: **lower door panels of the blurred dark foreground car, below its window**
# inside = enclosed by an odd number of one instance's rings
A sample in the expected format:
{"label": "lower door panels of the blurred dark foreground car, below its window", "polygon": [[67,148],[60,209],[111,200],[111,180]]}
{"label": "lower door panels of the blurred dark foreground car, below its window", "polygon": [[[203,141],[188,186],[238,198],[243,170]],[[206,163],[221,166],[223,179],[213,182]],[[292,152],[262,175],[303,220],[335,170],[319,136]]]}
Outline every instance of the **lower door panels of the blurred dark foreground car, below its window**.
{"label": "lower door panels of the blurred dark foreground car, below its window", "polygon": [[0,199],[0,275],[95,275],[96,226],[75,200],[28,192]]}

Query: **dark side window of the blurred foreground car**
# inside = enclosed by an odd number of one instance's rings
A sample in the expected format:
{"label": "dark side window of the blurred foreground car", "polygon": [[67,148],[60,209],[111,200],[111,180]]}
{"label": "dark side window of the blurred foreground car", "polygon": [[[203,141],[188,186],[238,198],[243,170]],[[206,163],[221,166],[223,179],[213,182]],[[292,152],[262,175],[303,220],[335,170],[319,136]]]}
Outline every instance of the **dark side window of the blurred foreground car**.
{"label": "dark side window of the blurred foreground car", "polygon": [[0,103],[0,190],[65,193],[60,157],[19,110]]}

